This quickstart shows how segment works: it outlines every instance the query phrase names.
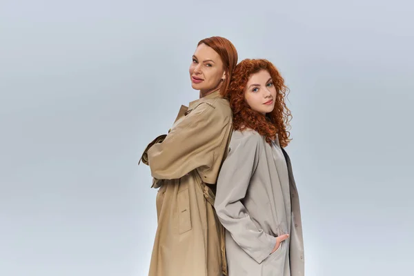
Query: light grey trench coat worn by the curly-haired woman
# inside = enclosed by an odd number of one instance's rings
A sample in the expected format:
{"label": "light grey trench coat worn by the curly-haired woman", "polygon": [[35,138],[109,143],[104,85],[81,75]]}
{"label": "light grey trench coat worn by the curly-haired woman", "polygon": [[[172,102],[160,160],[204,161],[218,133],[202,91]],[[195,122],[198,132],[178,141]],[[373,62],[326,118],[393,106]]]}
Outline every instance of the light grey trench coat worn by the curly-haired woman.
{"label": "light grey trench coat worn by the curly-haired woman", "polygon": [[[215,199],[217,216],[226,228],[229,276],[304,275],[297,188],[278,137],[275,144],[270,146],[254,130],[233,131]],[[286,233],[290,237],[271,253],[275,237]]]}

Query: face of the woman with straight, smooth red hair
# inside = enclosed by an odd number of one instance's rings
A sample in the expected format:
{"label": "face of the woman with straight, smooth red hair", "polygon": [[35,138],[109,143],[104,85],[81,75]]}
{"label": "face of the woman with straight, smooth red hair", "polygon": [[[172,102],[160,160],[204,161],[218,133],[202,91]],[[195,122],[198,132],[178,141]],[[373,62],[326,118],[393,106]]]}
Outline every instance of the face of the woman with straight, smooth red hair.
{"label": "face of the woman with straight, smooth red hair", "polygon": [[219,54],[213,48],[201,43],[195,49],[193,63],[190,65],[191,86],[203,94],[218,88],[221,79],[225,77],[223,62]]}

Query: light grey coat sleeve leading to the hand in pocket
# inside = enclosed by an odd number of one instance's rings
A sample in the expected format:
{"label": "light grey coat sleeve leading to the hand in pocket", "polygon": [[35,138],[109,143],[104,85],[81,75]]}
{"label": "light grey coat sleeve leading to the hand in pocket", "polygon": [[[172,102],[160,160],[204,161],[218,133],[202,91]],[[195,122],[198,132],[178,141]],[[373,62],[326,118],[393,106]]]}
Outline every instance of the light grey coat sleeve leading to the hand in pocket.
{"label": "light grey coat sleeve leading to the hand in pocket", "polygon": [[215,210],[235,242],[260,264],[275,247],[276,237],[257,228],[242,203],[257,168],[259,139],[262,139],[259,135],[250,135],[230,142],[231,150],[217,181]]}

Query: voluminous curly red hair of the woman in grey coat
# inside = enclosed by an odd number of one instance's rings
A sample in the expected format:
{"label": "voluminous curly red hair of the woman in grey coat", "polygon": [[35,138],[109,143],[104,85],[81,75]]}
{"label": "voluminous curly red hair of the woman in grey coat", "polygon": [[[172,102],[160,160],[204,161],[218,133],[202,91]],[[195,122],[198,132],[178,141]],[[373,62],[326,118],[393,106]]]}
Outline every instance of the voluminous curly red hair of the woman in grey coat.
{"label": "voluminous curly red hair of the woman in grey coat", "polygon": [[[248,79],[251,75],[261,70],[269,72],[277,91],[275,108],[272,112],[267,113],[266,116],[252,110],[244,97],[244,90],[246,89]],[[290,132],[288,131],[290,129],[289,121],[292,119],[290,110],[285,103],[288,92],[289,90],[284,83],[284,79],[270,61],[266,59],[244,59],[241,61],[237,64],[230,86],[224,95],[230,101],[230,106],[233,110],[234,129],[253,129],[260,135],[265,136],[269,144],[276,138],[277,134],[280,146],[283,148],[288,146],[291,140],[289,138]]]}

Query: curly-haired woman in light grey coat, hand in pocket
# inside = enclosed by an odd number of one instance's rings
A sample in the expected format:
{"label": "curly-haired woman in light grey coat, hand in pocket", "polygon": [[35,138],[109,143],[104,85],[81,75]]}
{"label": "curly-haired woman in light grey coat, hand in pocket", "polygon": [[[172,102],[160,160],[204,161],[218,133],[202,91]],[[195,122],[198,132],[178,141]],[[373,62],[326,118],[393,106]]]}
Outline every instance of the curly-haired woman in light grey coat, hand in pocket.
{"label": "curly-haired woman in light grey coat, hand in pocket", "polygon": [[245,59],[226,92],[234,130],[215,210],[226,228],[229,276],[304,275],[299,199],[284,150],[291,117],[286,90],[272,63]]}

